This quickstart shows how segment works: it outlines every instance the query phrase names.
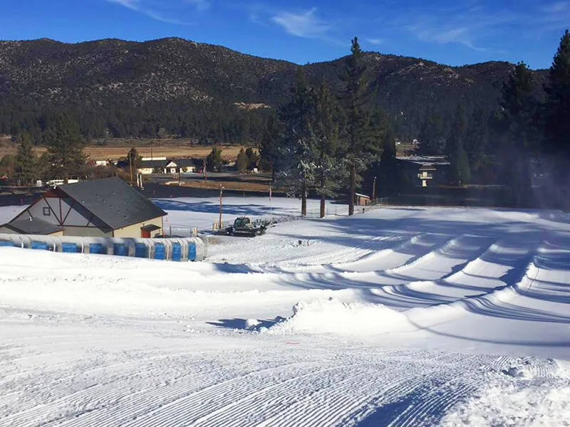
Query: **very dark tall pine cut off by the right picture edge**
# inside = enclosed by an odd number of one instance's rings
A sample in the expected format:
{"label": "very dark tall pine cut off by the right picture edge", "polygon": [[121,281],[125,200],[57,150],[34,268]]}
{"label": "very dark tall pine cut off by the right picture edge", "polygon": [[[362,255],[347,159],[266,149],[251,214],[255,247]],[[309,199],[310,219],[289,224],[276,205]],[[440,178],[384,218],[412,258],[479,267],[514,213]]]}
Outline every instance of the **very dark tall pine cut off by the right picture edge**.
{"label": "very dark tall pine cut off by the right picture edge", "polygon": [[546,148],[570,158],[570,32],[566,30],[552,61],[546,91]]}

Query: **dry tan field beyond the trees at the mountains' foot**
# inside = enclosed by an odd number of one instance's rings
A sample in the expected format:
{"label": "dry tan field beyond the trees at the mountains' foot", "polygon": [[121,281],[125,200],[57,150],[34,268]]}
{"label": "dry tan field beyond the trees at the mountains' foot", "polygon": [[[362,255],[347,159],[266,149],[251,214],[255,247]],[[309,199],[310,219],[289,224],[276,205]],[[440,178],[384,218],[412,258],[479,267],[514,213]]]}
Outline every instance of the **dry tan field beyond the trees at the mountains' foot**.
{"label": "dry tan field beyond the trees at the mountains' foot", "polygon": [[[142,157],[206,157],[212,151],[209,146],[190,147],[188,142],[182,139],[175,140],[142,140],[129,141],[128,139],[119,139],[113,143],[106,145],[88,145],[85,149],[86,154],[91,160],[118,160],[126,157],[131,147],[136,147]],[[224,159],[235,159],[242,147],[222,147],[222,157]],[[6,154],[16,154],[18,146],[10,141],[9,137],[0,137],[0,158]],[[40,156],[46,151],[45,147],[36,147],[33,149],[36,155]]]}

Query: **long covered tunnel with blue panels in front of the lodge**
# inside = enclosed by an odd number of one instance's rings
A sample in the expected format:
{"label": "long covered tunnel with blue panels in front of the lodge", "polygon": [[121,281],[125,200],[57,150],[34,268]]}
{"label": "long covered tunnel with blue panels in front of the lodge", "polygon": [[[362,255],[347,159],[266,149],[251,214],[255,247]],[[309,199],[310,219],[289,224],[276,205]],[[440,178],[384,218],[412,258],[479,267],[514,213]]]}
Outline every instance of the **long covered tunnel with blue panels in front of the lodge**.
{"label": "long covered tunnel with blue panels in front of the lodge", "polygon": [[0,246],[170,261],[202,261],[207,256],[207,245],[199,237],[111,238],[0,234]]}

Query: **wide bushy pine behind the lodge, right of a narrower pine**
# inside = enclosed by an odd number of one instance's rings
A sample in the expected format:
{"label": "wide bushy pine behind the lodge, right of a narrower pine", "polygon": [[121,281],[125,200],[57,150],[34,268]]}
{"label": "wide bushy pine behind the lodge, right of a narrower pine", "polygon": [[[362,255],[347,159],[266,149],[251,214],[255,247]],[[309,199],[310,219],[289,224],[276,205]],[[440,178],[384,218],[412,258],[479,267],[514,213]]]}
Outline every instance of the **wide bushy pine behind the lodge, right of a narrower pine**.
{"label": "wide bushy pine behind the lodge, right of a narrower pine", "polygon": [[83,137],[77,122],[67,115],[57,115],[43,137],[48,147],[51,176],[67,183],[69,177],[78,174],[86,162]]}

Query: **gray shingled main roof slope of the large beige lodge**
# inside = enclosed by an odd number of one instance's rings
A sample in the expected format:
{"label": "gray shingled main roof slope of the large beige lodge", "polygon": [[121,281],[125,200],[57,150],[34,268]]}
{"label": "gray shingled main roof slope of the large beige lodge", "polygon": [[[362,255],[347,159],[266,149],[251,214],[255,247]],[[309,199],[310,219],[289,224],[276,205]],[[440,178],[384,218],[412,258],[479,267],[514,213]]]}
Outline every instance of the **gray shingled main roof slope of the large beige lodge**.
{"label": "gray shingled main roof slope of the large beige lodge", "polygon": [[166,212],[119,178],[95,179],[58,186],[105,224],[116,230],[147,221]]}

